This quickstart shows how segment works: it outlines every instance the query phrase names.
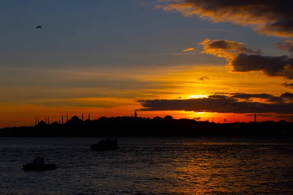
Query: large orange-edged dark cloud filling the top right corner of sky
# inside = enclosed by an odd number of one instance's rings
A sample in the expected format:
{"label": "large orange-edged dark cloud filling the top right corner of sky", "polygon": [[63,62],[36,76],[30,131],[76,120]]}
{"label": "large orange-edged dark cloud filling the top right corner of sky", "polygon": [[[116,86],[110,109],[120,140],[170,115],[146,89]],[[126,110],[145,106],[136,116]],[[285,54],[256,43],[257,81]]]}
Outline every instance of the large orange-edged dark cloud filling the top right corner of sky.
{"label": "large orange-edged dark cloud filling the top right corner of sky", "polygon": [[292,7],[289,0],[176,0],[155,8],[179,11],[187,17],[197,15],[212,22],[248,25],[260,34],[291,38]]}

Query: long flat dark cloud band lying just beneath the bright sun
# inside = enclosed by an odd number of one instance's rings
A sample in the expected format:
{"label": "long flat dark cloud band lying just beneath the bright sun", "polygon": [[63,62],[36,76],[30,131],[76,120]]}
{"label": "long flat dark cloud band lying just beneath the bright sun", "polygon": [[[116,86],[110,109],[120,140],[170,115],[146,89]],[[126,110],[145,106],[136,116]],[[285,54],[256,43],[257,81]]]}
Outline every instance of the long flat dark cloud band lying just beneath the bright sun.
{"label": "long flat dark cloud band lying just beneath the bright sun", "polygon": [[217,113],[293,114],[293,103],[260,103],[235,98],[146,99],[138,100],[140,111],[193,111]]}

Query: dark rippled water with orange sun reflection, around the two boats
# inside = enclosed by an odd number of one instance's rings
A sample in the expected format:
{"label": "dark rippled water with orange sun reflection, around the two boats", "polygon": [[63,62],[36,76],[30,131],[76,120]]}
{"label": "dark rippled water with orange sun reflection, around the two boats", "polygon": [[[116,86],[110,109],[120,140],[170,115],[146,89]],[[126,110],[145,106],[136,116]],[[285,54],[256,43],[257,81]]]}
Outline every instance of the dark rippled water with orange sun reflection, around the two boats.
{"label": "dark rippled water with orange sun reflection, around the two boats", "polygon": [[[293,194],[290,139],[118,138],[119,151],[90,151],[97,140],[0,137],[0,194]],[[35,156],[58,168],[22,170]]]}

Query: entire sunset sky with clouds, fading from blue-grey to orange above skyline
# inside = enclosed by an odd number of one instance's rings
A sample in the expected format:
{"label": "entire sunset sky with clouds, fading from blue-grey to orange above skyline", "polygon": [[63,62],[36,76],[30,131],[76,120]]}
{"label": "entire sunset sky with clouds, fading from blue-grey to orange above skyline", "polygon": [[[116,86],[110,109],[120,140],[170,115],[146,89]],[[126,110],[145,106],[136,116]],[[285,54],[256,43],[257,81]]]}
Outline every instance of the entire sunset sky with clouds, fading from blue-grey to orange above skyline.
{"label": "entire sunset sky with clouds, fading from blue-grey to orange above skyline", "polygon": [[[1,0],[0,127],[293,121],[291,1]],[[37,28],[37,26],[42,28]]]}

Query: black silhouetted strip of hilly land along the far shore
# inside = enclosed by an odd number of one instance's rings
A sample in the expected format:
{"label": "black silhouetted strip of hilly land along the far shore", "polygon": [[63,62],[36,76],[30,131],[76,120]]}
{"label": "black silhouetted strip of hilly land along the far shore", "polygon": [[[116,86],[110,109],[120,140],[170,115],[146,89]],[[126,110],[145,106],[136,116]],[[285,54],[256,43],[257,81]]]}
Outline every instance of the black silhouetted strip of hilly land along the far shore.
{"label": "black silhouetted strip of hilly land along the far shore", "polygon": [[0,129],[0,137],[221,137],[293,136],[293,122],[215,123],[171,116],[100,117],[95,120],[74,116],[64,124],[41,121],[36,126]]}

